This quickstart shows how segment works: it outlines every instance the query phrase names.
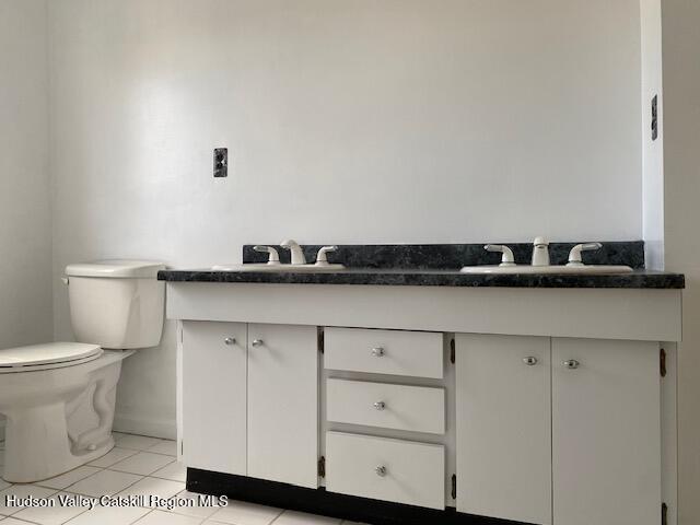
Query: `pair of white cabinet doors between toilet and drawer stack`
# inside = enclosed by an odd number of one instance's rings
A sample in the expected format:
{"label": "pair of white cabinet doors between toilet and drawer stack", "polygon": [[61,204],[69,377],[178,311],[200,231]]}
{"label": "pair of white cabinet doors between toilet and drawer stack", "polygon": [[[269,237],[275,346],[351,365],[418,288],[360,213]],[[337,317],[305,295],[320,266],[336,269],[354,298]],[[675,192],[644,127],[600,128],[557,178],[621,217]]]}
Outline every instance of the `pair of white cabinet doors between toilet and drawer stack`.
{"label": "pair of white cabinet doors between toilet and drawer stack", "polygon": [[184,322],[185,465],[317,487],[315,326]]}

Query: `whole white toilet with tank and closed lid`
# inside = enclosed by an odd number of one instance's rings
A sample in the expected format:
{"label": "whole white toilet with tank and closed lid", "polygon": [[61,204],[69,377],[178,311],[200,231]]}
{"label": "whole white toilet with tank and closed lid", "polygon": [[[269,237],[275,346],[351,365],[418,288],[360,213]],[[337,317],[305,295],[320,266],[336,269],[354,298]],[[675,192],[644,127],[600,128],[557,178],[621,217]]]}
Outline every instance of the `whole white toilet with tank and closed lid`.
{"label": "whole white toilet with tank and closed lid", "polygon": [[159,345],[165,285],[161,262],[105,260],[66,268],[80,342],[0,350],[0,413],[7,417],[10,482],[58,476],[114,446],[112,422],[121,360]]}

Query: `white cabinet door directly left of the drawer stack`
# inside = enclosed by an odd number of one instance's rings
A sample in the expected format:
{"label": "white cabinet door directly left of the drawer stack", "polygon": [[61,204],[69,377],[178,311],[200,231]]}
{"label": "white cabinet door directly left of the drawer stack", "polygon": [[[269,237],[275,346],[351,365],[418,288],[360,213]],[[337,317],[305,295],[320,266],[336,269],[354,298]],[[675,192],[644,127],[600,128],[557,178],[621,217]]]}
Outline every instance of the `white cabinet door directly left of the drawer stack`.
{"label": "white cabinet door directly left of the drawer stack", "polygon": [[315,326],[248,325],[248,476],[318,486]]}

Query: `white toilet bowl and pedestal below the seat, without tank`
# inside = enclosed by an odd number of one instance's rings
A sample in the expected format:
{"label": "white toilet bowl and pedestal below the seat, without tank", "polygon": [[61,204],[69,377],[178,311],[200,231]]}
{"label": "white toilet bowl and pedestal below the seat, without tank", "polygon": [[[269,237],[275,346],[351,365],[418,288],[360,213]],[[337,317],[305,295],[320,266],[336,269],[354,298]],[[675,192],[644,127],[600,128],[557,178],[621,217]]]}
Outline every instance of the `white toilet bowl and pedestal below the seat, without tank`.
{"label": "white toilet bowl and pedestal below the seat, without tank", "polygon": [[2,478],[40,481],[108,453],[121,360],[131,353],[105,351],[88,363],[0,377],[0,390],[15,394],[15,399],[0,401],[7,417]]}

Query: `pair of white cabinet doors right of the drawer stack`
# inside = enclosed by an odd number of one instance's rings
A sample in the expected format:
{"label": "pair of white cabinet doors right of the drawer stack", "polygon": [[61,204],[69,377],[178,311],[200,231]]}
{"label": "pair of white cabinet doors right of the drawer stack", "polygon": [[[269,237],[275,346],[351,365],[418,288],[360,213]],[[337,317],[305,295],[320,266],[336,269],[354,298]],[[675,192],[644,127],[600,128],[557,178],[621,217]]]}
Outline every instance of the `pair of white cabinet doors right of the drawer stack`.
{"label": "pair of white cabinet doors right of the drawer stack", "polygon": [[656,525],[660,346],[456,336],[457,510]]}

